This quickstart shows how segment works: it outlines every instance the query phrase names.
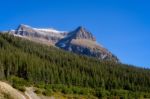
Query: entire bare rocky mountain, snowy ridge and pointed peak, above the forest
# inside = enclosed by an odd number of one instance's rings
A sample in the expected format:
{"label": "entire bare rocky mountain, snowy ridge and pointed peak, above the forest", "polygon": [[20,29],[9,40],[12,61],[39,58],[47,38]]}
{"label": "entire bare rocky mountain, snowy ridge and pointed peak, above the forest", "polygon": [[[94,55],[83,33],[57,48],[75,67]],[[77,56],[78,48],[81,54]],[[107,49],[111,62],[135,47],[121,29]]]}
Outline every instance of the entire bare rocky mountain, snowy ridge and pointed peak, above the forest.
{"label": "entire bare rocky mountain, snowy ridge and pointed peak, above the forest", "polygon": [[80,55],[96,57],[100,60],[119,61],[115,55],[96,42],[91,32],[81,26],[74,31],[63,32],[51,28],[39,29],[20,25],[16,30],[9,33],[27,39],[30,38],[30,40],[36,42],[53,45]]}

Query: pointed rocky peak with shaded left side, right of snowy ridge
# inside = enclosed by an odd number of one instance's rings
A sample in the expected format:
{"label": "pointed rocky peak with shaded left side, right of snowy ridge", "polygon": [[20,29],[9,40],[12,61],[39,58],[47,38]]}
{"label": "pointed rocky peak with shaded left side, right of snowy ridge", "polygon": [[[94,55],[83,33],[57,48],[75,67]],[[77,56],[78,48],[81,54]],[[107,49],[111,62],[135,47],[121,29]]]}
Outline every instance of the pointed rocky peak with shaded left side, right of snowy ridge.
{"label": "pointed rocky peak with shaded left side, right of snowy ridge", "polygon": [[119,61],[116,56],[99,45],[92,33],[83,27],[78,27],[76,30],[68,33],[65,38],[56,43],[56,46],[67,51],[96,57],[101,60]]}

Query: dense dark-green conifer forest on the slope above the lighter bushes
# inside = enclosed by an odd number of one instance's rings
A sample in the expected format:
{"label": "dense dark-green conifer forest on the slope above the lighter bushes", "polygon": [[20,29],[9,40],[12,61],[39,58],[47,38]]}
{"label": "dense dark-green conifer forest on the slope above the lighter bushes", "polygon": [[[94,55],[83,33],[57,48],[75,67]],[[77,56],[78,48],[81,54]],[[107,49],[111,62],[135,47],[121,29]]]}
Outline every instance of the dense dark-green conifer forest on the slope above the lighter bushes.
{"label": "dense dark-green conifer forest on the slope above the lighter bushes", "polygon": [[103,90],[107,91],[106,96],[118,96],[117,90],[123,90],[123,94],[141,92],[142,97],[149,97],[150,92],[148,69],[100,61],[13,35],[0,34],[0,79],[8,80],[12,76],[32,84],[90,88],[97,97],[103,97]]}

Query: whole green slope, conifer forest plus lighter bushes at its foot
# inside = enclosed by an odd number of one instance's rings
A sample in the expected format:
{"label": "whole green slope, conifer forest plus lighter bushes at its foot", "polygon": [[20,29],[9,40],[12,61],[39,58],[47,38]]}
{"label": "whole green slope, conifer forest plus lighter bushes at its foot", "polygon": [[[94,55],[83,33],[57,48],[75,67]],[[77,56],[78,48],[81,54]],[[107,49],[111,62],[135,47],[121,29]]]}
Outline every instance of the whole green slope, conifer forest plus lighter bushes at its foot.
{"label": "whole green slope, conifer forest plus lighter bushes at its foot", "polygon": [[[0,80],[25,94],[29,92],[28,95],[61,95],[56,99],[150,99],[149,76],[146,68],[99,61],[0,33]],[[35,91],[26,89],[33,86]],[[4,94],[6,87],[2,87],[0,98],[1,94],[8,97],[13,92]]]}

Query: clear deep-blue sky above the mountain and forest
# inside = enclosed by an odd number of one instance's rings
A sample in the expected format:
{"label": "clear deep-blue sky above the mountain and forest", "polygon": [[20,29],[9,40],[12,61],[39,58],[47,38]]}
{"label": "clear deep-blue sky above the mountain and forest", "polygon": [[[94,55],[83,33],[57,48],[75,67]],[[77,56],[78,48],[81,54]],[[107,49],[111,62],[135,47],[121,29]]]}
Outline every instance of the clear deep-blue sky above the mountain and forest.
{"label": "clear deep-blue sky above the mountain and forest", "polygon": [[150,68],[149,0],[1,0],[0,30],[84,26],[123,63]]}

